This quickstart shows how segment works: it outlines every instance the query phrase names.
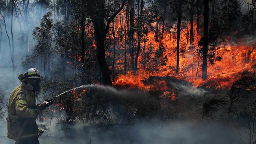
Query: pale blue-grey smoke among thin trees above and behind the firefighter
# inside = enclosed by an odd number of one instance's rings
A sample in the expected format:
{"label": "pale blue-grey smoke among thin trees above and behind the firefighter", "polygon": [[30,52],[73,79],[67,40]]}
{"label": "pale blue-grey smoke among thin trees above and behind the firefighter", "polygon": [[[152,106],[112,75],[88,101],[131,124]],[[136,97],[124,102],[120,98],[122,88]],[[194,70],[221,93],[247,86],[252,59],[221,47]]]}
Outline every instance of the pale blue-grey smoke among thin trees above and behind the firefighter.
{"label": "pale blue-grey smoke among thin trees above and behind the firefighter", "polygon": [[[0,79],[1,85],[0,90],[4,95],[8,96],[11,90],[19,85],[20,81],[18,79],[19,74],[26,72],[27,68],[22,66],[22,61],[25,59],[27,54],[31,54],[35,46],[35,41],[32,36],[32,30],[39,26],[39,22],[43,15],[49,11],[45,7],[34,4],[36,1],[30,1],[28,8],[28,22],[25,22],[25,16],[22,12],[22,17],[19,15],[19,20],[17,20],[16,13],[13,15],[13,45],[14,45],[14,65],[13,68],[11,62],[11,53],[9,48],[9,41],[6,35],[6,30],[2,16],[0,16],[1,21],[1,33],[0,37]],[[7,7],[8,8],[8,7]],[[6,29],[10,38],[11,48],[12,48],[12,37],[11,37],[11,15],[10,11],[1,11],[4,15],[6,21]],[[19,24],[20,23],[20,24]],[[20,27],[21,26],[21,27]],[[21,28],[21,29],[20,29]],[[26,34],[28,33],[28,34]],[[28,42],[24,42],[25,37],[28,37]],[[37,66],[35,64],[35,66]],[[39,68],[40,69],[40,68]]]}

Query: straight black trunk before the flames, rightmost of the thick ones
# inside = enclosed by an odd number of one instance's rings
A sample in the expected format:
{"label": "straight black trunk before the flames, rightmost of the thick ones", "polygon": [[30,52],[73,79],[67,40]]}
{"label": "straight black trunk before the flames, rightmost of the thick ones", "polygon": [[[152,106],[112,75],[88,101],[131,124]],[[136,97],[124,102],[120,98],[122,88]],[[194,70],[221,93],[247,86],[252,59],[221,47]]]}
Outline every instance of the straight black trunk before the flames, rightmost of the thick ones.
{"label": "straight black trunk before the flames, rightmost of the thick ones", "polygon": [[208,57],[208,21],[209,21],[209,0],[204,0],[204,45],[203,45],[203,64],[202,79],[207,79],[207,57]]}

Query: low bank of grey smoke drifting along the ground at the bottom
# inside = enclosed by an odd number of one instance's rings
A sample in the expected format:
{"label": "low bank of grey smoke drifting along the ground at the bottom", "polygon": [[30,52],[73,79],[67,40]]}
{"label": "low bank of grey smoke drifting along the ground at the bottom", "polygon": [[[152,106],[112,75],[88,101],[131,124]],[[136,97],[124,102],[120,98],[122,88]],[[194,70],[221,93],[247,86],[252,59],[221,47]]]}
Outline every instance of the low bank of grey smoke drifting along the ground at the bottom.
{"label": "low bank of grey smoke drifting along the ground at the bottom", "polygon": [[[13,144],[0,127],[3,144]],[[182,120],[169,124],[159,120],[141,120],[133,125],[116,124],[93,127],[76,124],[66,131],[54,125],[39,137],[40,144],[239,144],[239,135],[232,127],[217,123],[193,124]],[[86,142],[87,141],[87,142]]]}

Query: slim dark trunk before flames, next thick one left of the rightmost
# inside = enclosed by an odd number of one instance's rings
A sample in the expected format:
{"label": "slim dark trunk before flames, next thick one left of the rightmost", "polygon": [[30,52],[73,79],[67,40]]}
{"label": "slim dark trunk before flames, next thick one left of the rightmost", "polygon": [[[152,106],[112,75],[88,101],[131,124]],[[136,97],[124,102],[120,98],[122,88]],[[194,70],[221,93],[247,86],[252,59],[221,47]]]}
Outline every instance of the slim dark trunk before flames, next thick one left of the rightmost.
{"label": "slim dark trunk before flames, next thick one left of the rightmost", "polygon": [[177,24],[177,63],[176,63],[176,74],[179,73],[180,67],[180,27],[181,27],[181,18],[182,18],[182,4],[179,2],[178,4],[178,24]]}

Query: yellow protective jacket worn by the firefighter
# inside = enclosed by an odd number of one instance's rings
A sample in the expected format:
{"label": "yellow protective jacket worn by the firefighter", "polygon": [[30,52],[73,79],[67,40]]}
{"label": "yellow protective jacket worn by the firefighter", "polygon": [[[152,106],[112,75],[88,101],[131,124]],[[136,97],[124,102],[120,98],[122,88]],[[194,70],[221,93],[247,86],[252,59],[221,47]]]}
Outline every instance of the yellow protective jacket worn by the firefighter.
{"label": "yellow protective jacket worn by the firefighter", "polygon": [[43,131],[35,122],[38,114],[35,95],[22,82],[9,96],[7,137],[15,140],[39,137]]}

